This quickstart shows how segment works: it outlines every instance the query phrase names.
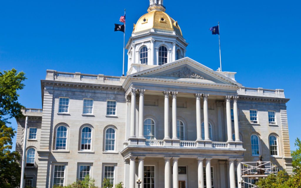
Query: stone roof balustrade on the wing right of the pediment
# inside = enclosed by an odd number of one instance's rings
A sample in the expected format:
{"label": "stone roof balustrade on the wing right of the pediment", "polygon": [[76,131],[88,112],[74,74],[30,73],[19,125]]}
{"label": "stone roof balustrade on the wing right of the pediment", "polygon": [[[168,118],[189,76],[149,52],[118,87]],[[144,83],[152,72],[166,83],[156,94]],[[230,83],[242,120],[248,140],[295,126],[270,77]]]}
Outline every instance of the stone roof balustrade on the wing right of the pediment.
{"label": "stone roof balustrade on the wing right of the pediment", "polygon": [[285,98],[283,89],[246,88],[242,86],[239,90],[237,90],[237,94],[256,97]]}

